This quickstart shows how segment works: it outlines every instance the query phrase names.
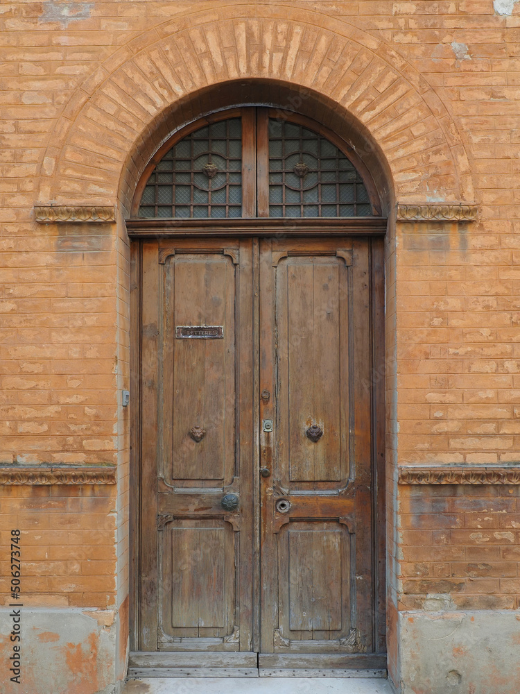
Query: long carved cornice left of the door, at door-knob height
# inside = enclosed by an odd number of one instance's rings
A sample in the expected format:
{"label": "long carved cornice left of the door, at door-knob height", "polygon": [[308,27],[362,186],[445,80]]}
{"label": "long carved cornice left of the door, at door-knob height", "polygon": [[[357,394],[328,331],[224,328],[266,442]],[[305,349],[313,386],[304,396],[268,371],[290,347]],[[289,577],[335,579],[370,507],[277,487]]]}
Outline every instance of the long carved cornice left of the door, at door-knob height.
{"label": "long carved cornice left of the door, at door-knob height", "polygon": [[116,484],[114,465],[2,465],[0,484]]}

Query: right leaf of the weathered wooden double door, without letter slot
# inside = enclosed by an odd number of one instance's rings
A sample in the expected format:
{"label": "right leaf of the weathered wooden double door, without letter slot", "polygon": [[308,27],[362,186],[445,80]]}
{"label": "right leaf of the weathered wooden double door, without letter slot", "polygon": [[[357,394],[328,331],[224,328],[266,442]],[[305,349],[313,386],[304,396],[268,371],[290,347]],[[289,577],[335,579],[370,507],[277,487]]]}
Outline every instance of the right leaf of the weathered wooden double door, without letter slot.
{"label": "right leaf of the weathered wooden double door, without letter slot", "polygon": [[261,260],[261,652],[322,668],[373,649],[368,246],[265,240]]}

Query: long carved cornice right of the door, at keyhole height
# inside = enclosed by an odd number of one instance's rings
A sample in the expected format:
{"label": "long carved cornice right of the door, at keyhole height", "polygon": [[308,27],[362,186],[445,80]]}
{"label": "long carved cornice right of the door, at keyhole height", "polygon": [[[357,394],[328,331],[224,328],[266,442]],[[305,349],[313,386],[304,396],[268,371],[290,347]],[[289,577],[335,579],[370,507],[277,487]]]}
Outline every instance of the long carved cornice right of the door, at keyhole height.
{"label": "long carved cornice right of the door, at keyhole height", "polygon": [[520,484],[520,465],[400,465],[399,484]]}

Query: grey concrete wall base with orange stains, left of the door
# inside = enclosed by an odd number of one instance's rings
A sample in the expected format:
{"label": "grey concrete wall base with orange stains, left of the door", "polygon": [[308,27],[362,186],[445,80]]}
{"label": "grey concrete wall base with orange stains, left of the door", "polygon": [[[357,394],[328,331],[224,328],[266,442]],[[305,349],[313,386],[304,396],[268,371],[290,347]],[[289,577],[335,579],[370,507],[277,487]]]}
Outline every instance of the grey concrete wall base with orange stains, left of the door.
{"label": "grey concrete wall base with orange stains, left of the door", "polygon": [[[0,609],[3,694],[119,694],[115,610],[22,607],[19,623],[16,610]],[[20,641],[13,641],[18,624]],[[19,684],[10,681],[14,654],[20,657]]]}

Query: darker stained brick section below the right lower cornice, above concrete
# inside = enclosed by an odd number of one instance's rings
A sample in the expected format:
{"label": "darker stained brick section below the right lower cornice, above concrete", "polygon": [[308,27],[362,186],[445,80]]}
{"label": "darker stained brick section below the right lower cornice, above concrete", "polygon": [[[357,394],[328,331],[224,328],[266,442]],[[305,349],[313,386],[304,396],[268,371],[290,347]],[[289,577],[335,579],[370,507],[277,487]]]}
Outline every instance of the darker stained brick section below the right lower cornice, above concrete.
{"label": "darker stained brick section below the right lower cornice, above concrete", "polygon": [[410,487],[399,608],[518,609],[519,496],[517,486]]}

